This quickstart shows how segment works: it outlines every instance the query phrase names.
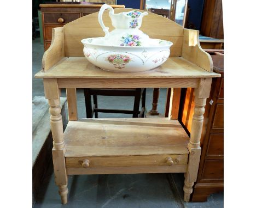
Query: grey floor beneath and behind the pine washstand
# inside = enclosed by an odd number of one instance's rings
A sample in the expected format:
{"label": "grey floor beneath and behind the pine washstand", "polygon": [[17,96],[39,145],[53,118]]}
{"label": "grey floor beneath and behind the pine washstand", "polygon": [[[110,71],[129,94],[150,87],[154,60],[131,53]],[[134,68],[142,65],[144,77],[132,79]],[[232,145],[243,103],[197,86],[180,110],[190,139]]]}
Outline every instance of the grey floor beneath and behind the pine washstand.
{"label": "grey floor beneath and behind the pine washstand", "polygon": [[[33,96],[44,96],[42,79],[35,79],[42,64],[44,47],[40,39],[33,40]],[[147,89],[146,108],[152,108],[153,89]],[[65,90],[61,96],[66,96]],[[166,89],[160,90],[160,113],[164,113]],[[77,91],[78,117],[85,118],[82,90]],[[131,97],[98,96],[98,107],[132,109]],[[67,109],[67,108],[66,108]],[[99,118],[130,118],[127,114],[99,113]],[[175,174],[113,174],[73,175],[68,179],[68,204],[61,205],[58,188],[54,183],[52,164],[45,175],[34,207],[223,207],[223,192],[211,194],[204,203],[183,201],[184,176]]]}

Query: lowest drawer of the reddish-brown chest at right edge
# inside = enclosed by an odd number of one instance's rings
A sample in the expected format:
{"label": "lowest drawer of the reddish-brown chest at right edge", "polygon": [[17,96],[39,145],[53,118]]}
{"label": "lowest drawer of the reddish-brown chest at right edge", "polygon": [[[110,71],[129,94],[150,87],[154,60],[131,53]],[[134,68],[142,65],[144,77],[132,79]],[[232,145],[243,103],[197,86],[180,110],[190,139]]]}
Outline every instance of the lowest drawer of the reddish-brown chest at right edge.
{"label": "lowest drawer of the reddish-brown chest at right edge", "polygon": [[224,161],[223,160],[205,160],[202,179],[223,179]]}

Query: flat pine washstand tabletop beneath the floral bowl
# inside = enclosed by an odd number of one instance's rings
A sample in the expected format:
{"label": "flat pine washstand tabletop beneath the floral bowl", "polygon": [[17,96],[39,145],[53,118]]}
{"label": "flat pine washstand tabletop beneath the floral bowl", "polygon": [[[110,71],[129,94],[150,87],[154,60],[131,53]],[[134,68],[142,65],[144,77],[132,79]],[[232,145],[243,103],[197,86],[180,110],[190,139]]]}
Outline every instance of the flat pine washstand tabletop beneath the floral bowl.
{"label": "flat pine washstand tabletop beneath the floral bowl", "polygon": [[91,64],[85,57],[64,57],[36,78],[206,78],[220,77],[188,62],[182,57],[170,57],[158,68],[143,72],[111,72]]}

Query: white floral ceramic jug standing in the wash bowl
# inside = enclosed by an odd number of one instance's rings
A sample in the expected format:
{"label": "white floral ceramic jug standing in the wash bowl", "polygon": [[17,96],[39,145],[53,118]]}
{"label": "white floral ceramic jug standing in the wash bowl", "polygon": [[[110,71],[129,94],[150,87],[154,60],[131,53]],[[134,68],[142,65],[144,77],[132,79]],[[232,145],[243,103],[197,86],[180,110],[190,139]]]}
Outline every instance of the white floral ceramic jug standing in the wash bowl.
{"label": "white floral ceramic jug standing in the wash bowl", "polygon": [[[104,10],[109,9],[109,16],[113,27],[110,33],[108,27],[104,26],[102,14]],[[105,36],[104,41],[107,45],[113,46],[147,46],[149,45],[149,36],[143,33],[139,28],[142,24],[142,18],[148,15],[147,12],[132,10],[129,12],[114,14],[114,9],[107,4],[102,5],[98,13],[98,22],[100,23]]]}

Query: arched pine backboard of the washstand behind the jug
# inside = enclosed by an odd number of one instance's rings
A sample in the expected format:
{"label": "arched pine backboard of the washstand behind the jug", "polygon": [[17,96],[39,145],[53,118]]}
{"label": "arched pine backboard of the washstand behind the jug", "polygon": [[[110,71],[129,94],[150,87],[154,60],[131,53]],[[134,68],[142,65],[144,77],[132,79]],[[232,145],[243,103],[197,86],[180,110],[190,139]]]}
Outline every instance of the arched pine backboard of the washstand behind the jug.
{"label": "arched pine backboard of the washstand behind the jug", "polygon": [[[114,13],[121,13],[123,11],[131,10],[132,9],[117,8],[114,9]],[[143,10],[136,10],[144,12]],[[108,15],[108,10],[104,11],[103,22],[106,27],[109,27],[109,32],[114,29]],[[66,57],[83,57],[83,44],[81,40],[84,38],[104,36],[104,32],[98,23],[98,12],[80,17],[79,19],[74,20],[63,27]],[[144,33],[148,34],[150,38],[173,42],[170,56],[182,56],[182,26],[165,17],[149,12],[148,16],[143,17],[142,26],[140,29]]]}

